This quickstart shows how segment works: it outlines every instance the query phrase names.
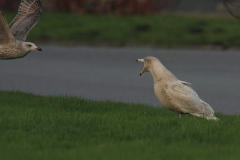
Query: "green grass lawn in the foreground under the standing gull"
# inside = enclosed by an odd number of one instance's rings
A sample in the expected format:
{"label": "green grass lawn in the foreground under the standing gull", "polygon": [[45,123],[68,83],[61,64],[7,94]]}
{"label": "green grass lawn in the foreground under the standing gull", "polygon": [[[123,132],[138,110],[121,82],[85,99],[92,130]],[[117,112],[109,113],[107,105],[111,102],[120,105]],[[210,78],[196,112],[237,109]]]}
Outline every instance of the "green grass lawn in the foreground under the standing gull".
{"label": "green grass lawn in the foreground under the standing gull", "polygon": [[240,158],[240,116],[220,121],[141,104],[0,92],[2,160]]}

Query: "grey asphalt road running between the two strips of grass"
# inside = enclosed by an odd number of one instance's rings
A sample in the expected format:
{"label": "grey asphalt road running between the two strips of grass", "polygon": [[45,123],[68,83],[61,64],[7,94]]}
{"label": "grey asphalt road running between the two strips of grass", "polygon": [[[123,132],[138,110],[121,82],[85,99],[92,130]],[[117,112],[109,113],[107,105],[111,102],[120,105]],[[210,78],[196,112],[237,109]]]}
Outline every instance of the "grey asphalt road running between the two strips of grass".
{"label": "grey asphalt road running between the two strips of grass", "polygon": [[40,47],[43,52],[0,61],[1,90],[161,106],[151,74],[140,77],[143,63],[135,62],[154,56],[178,79],[192,83],[215,112],[240,113],[239,51]]}

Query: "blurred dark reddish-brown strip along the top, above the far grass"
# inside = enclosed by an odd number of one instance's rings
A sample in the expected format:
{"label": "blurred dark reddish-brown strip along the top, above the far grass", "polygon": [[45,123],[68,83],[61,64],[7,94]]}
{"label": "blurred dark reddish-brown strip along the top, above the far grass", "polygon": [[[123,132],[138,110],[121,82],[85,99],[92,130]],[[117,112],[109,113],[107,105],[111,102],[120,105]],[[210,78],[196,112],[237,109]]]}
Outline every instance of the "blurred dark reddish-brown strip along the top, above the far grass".
{"label": "blurred dark reddish-brown strip along the top, above the far grass", "polygon": [[[20,0],[1,0],[0,7],[16,10]],[[48,11],[78,13],[147,14],[173,12],[223,12],[222,0],[43,0]]]}

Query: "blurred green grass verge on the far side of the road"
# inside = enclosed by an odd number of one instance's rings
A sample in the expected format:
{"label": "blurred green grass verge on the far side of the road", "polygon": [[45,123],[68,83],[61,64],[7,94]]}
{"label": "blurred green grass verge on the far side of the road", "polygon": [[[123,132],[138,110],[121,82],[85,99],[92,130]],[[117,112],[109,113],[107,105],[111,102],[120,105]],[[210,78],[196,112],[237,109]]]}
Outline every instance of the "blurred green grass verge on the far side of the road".
{"label": "blurred green grass verge on the far side of the road", "polygon": [[[16,13],[6,13],[10,22]],[[78,15],[43,12],[29,41],[89,45],[240,45],[240,23],[204,15]]]}

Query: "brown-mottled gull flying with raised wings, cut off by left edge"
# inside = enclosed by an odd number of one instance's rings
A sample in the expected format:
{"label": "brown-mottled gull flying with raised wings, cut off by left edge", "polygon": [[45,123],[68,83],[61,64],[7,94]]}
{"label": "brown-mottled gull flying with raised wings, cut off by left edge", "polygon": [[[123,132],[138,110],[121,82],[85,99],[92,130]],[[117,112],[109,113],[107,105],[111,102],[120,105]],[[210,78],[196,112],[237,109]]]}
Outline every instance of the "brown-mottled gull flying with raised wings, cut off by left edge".
{"label": "brown-mottled gull flying with raised wings, cut off by left edge", "polygon": [[0,59],[15,59],[41,48],[25,42],[29,31],[38,23],[42,12],[41,0],[22,0],[17,16],[8,26],[0,10]]}

